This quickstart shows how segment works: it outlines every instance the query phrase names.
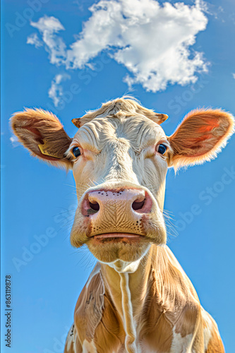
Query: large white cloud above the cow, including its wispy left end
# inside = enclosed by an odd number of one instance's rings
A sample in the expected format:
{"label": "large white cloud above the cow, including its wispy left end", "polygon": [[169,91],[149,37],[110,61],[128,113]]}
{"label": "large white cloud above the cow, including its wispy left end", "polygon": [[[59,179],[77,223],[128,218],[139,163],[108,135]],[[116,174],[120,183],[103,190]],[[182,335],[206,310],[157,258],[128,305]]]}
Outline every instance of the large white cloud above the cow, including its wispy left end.
{"label": "large white cloud above the cow, including its wispy left end", "polygon": [[207,71],[203,53],[193,52],[198,32],[205,30],[205,4],[159,4],[156,0],[100,0],[90,7],[92,15],[83,31],[66,50],[57,32],[59,20],[44,16],[31,23],[42,32],[52,64],[66,68],[90,66],[106,50],[129,71],[129,87],[140,83],[148,91],[164,90],[168,84],[186,85],[197,80],[195,73]]}

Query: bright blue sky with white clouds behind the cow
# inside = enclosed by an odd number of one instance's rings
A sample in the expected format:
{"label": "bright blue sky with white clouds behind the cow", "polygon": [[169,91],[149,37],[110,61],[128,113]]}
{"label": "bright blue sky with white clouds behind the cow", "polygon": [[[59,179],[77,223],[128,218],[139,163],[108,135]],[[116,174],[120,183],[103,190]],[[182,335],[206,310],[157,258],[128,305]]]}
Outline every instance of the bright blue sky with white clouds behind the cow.
{"label": "bright blue sky with white clouds behind the cow", "polygon": [[[1,3],[1,278],[12,277],[13,353],[63,352],[95,260],[69,243],[71,172],[30,158],[12,138],[11,114],[50,109],[73,136],[71,119],[126,92],[169,115],[168,135],[196,107],[235,112],[232,0],[159,1],[158,8],[149,0],[143,11],[128,0],[131,12],[121,0],[105,3],[92,12],[90,0]],[[217,321],[227,352],[234,350],[234,148],[232,137],[216,160],[176,176],[169,170],[165,200],[178,229],[168,244]],[[1,323],[4,334],[4,317]]]}

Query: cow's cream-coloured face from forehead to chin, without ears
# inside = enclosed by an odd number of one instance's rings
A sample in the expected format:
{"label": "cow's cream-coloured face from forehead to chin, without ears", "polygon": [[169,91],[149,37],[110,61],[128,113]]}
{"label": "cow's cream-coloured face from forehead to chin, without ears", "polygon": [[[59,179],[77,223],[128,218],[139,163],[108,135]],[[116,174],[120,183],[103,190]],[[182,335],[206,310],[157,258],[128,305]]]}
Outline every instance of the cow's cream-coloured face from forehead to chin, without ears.
{"label": "cow's cream-coloured face from forehead to chin, without ears", "polygon": [[109,263],[137,261],[151,243],[165,244],[170,150],[162,128],[142,115],[96,118],[79,128],[68,152],[78,195],[71,243],[87,244]]}

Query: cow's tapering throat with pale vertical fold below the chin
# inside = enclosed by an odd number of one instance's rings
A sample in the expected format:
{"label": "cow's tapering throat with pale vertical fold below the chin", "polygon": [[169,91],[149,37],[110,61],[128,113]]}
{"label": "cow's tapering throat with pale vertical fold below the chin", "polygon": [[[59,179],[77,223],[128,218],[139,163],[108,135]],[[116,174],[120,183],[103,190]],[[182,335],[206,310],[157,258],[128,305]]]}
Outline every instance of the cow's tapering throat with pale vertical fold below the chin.
{"label": "cow's tapering throat with pale vertical fold below the chin", "polygon": [[147,297],[151,258],[150,248],[141,261],[132,265],[116,263],[115,268],[115,265],[102,264],[105,289],[123,323],[126,350],[130,353],[136,352],[136,328]]}

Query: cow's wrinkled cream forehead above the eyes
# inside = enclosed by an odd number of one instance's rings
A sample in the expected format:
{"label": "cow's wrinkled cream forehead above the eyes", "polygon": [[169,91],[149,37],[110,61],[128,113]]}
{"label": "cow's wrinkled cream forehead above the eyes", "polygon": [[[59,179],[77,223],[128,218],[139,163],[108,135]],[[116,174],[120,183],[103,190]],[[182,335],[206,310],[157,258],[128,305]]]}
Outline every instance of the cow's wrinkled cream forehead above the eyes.
{"label": "cow's wrinkled cream forehead above the eyes", "polygon": [[109,140],[124,138],[130,145],[139,150],[166,138],[164,130],[146,116],[95,118],[78,129],[73,138],[84,148],[102,150]]}

